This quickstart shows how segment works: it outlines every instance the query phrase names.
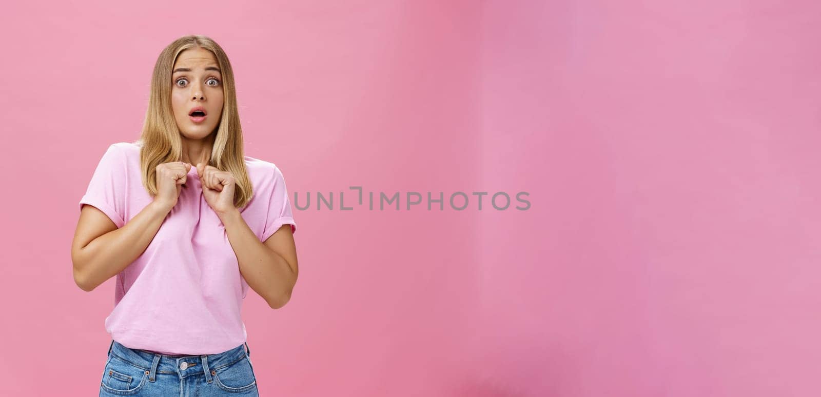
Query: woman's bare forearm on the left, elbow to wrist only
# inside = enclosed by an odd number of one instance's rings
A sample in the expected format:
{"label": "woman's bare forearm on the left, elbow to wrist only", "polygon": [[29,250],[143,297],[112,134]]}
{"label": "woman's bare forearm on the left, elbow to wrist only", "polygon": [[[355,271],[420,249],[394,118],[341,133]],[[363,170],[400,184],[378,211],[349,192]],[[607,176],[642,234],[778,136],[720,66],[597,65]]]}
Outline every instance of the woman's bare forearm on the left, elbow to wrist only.
{"label": "woman's bare forearm on the left, elbow to wrist only", "polygon": [[121,228],[91,240],[80,249],[74,265],[80,274],[82,289],[94,290],[139,258],[170,211],[157,202],[149,203]]}

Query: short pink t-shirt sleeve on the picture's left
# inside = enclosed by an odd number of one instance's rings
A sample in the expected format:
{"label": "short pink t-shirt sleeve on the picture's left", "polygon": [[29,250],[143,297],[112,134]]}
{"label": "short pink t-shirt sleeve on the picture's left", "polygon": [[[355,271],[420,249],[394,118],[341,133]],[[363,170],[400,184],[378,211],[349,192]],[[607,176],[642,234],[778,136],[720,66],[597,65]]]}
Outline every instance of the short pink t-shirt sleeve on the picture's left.
{"label": "short pink t-shirt sleeve on the picture's left", "polygon": [[91,176],[88,189],[80,199],[80,210],[83,204],[94,206],[106,214],[117,227],[126,224],[126,162],[122,148],[117,144],[108,147]]}

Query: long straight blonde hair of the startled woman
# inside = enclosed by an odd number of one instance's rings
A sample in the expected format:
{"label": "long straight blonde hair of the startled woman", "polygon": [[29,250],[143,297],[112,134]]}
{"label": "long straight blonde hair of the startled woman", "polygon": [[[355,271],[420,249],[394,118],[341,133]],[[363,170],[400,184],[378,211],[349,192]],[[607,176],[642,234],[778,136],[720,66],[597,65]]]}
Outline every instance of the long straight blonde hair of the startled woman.
{"label": "long straight blonde hair of the startled woman", "polygon": [[145,112],[140,139],[140,168],[142,181],[149,194],[157,193],[157,166],[164,162],[179,162],[182,159],[180,130],[174,119],[171,106],[172,68],[180,52],[189,48],[204,48],[217,58],[222,71],[222,116],[213,137],[213,148],[208,165],[220,171],[231,172],[236,180],[234,205],[245,207],[253,196],[250,177],[245,167],[242,145],[242,127],[236,110],[236,86],[231,62],[218,43],[203,35],[188,35],[174,40],[160,52],[154,73],[151,76],[151,95]]}

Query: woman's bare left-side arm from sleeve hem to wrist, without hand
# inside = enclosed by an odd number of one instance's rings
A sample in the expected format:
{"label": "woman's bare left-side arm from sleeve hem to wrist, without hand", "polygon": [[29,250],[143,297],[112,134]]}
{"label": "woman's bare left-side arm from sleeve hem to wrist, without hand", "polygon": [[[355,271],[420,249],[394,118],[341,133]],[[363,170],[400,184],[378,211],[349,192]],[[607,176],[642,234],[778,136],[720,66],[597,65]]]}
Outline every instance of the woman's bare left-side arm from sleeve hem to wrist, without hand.
{"label": "woman's bare left-side arm from sleeve hem to wrist, without hand", "polygon": [[84,291],[94,290],[139,258],[171,208],[155,200],[118,229],[98,208],[84,205],[71,243],[77,286]]}

